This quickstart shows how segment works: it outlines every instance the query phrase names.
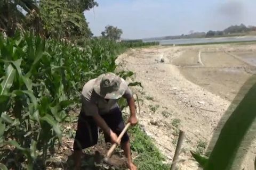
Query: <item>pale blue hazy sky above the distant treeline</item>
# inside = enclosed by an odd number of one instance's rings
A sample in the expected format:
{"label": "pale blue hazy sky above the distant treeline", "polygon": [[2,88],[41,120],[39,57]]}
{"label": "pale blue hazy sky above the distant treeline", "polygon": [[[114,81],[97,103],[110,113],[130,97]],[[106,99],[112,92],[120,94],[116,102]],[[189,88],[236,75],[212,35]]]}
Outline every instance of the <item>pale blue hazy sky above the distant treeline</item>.
{"label": "pale blue hazy sky above the distant treeline", "polygon": [[142,39],[256,25],[255,0],[96,0],[84,15],[94,36],[106,25],[123,30],[122,38]]}

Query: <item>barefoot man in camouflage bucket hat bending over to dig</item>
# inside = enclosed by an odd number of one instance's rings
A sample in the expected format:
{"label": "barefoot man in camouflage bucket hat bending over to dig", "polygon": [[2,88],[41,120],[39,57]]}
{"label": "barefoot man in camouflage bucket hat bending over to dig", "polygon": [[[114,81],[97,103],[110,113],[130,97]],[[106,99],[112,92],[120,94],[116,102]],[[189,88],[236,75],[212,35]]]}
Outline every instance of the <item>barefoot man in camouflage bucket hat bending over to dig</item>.
{"label": "barefoot man in camouflage bucket hat bending over to dig", "polygon": [[82,149],[92,147],[98,142],[98,127],[105,134],[105,141],[121,143],[130,170],[137,167],[132,163],[129,136],[125,133],[118,141],[118,135],[124,129],[121,110],[117,104],[124,97],[130,108],[129,122],[137,124],[135,103],[132,91],[124,79],[114,73],[100,75],[87,82],[82,91],[82,109],[78,118],[76,137],[74,141],[75,168],[80,169]]}

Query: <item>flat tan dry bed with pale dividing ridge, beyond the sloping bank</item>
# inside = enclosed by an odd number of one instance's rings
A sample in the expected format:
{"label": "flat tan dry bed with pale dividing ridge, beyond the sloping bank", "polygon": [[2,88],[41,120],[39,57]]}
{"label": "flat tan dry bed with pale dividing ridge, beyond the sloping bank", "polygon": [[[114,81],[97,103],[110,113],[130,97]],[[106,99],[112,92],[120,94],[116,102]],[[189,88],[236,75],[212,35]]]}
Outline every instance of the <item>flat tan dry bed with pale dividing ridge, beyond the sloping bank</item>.
{"label": "flat tan dry bed with pale dividing ridge, beyond the sloping bank", "polygon": [[250,77],[256,64],[256,54],[252,52],[198,54],[199,51],[183,53],[173,63],[180,65],[180,72],[189,81],[229,101],[233,100],[243,82]]}

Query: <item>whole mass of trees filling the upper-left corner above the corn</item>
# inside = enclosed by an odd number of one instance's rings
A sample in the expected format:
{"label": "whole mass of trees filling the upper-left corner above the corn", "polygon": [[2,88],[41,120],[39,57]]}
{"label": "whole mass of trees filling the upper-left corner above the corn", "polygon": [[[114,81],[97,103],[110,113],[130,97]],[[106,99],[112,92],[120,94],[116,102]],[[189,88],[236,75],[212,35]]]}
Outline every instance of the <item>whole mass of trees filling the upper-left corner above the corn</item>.
{"label": "whole mass of trees filling the upper-left corner above the corn", "polygon": [[0,1],[0,31],[8,36],[15,30],[33,30],[37,35],[53,38],[89,38],[83,11],[98,6],[94,0],[2,0]]}

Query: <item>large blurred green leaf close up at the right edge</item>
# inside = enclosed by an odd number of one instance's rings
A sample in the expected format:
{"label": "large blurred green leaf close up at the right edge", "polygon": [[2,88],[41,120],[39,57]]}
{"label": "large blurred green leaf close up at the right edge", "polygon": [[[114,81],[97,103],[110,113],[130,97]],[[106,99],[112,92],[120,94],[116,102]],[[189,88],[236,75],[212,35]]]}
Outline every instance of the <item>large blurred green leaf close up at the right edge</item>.
{"label": "large blurred green leaf close up at the right edge", "polygon": [[[239,169],[256,130],[256,74],[249,78],[220,120],[204,170]],[[234,106],[236,106],[234,108]],[[218,129],[217,129],[218,130]],[[218,131],[219,131],[218,130]],[[216,140],[217,139],[217,140]],[[209,149],[210,150],[210,149]]]}

